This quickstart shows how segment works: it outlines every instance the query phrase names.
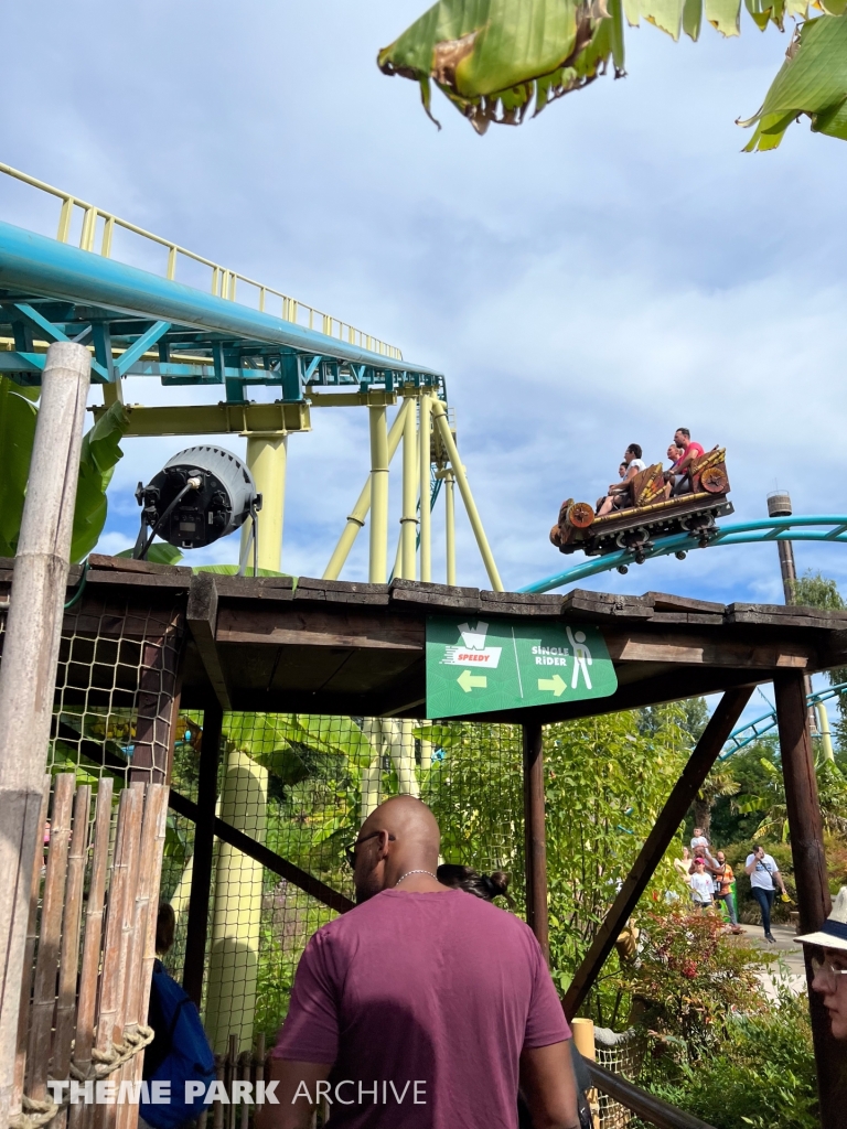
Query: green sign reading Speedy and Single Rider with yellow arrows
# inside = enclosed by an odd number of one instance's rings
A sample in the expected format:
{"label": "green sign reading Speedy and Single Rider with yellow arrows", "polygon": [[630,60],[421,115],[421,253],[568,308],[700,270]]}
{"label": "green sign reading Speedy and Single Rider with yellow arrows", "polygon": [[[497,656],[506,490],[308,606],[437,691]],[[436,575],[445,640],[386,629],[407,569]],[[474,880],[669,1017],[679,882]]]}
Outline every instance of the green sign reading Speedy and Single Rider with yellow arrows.
{"label": "green sign reading Speedy and Single Rider with yellow arrows", "polygon": [[608,698],[617,689],[597,628],[440,615],[427,620],[427,717]]}

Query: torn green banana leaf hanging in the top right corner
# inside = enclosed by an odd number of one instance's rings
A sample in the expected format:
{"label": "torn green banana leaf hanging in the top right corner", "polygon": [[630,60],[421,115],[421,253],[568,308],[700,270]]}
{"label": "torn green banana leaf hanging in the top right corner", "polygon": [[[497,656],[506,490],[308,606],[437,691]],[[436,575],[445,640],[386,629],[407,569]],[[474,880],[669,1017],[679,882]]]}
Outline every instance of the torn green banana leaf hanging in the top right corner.
{"label": "torn green banana leaf hanging in the top right corner", "polygon": [[765,104],[739,125],[756,123],[745,152],[776,149],[793,121],[847,141],[847,16],[820,16],[798,28]]}

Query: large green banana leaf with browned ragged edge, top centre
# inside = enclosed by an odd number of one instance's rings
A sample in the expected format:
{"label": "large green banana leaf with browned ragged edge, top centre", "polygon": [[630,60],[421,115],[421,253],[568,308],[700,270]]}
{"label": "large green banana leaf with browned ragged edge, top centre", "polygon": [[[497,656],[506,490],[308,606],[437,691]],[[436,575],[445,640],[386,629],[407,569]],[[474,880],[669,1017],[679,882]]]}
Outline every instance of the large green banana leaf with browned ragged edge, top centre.
{"label": "large green banana leaf with browned ragged edge, top centre", "polygon": [[478,133],[519,124],[533,100],[538,114],[610,60],[622,75],[621,0],[439,0],[377,56],[420,84],[430,117],[435,82]]}

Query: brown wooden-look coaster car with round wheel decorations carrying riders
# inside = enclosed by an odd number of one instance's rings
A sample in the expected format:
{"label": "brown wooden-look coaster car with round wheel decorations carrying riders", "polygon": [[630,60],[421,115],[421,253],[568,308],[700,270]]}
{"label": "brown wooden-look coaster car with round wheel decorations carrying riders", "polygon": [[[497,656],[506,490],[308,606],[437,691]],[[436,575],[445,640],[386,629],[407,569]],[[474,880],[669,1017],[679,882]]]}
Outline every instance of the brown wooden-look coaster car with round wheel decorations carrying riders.
{"label": "brown wooden-look coaster car with round wheel decorations carrying riders", "polygon": [[726,498],[728,492],[724,447],[715,447],[695,460],[671,498],[665,498],[662,464],[655,463],[632,479],[623,507],[604,517],[597,517],[590,502],[568,498],[561,504],[550,541],[559,552],[582,550],[587,557],[628,549],[640,564],[656,537],[689,533],[700,546],[706,545],[714,534],[715,520],[733,513],[733,505]]}

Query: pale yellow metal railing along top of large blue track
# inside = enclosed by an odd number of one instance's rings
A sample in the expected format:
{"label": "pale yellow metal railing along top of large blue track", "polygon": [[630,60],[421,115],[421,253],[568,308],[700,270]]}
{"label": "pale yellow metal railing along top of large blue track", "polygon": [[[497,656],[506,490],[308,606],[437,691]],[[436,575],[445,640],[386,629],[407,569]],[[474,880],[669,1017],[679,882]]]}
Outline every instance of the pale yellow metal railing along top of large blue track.
{"label": "pale yellow metal railing along top of large blue track", "polygon": [[[85,200],[79,200],[77,196],[72,196],[68,192],[62,192],[61,189],[55,189],[52,184],[45,184],[44,181],[38,181],[36,177],[29,176],[27,173],[21,173],[19,169],[12,168],[10,165],[3,165],[0,163],[0,173],[5,173],[7,176],[11,176],[16,181],[21,181],[24,184],[28,184],[42,192],[47,192],[62,201],[62,208],[59,215],[59,231],[56,234],[56,238],[61,243],[70,242],[75,209],[79,208],[82,211],[82,230],[79,238],[79,246],[82,251],[95,252],[97,236],[99,234],[99,253],[106,259],[110,259],[112,256],[114,230],[116,227],[123,228],[126,231],[131,231],[133,235],[148,239],[150,243],[155,243],[160,247],[167,248],[167,268],[165,270],[165,277],[168,279],[176,279],[178,256],[190,259],[192,262],[199,263],[201,266],[209,268],[211,271],[211,292],[217,295],[219,298],[227,298],[230,301],[236,301],[236,288],[241,282],[243,286],[252,287],[256,291],[260,310],[267,310],[269,299],[278,298],[281,301],[281,315],[286,322],[292,322],[295,325],[307,326],[309,330],[317,330],[320,333],[323,333],[329,338],[338,338],[339,341],[344,341],[351,345],[358,345],[360,349],[367,349],[370,352],[382,353],[383,357],[391,357],[393,360],[402,360],[403,355],[395,345],[386,344],[384,341],[379,341],[378,338],[370,336],[369,333],[363,333],[361,330],[357,330],[348,322],[342,322],[340,318],[333,317],[331,314],[324,314],[322,310],[315,309],[314,306],[308,306],[306,303],[297,301],[296,298],[291,298],[288,295],[282,294],[281,290],[274,290],[273,287],[263,286],[261,282],[256,282],[255,279],[251,279],[247,278],[246,274],[238,273],[238,271],[230,271],[227,268],[221,266],[219,263],[213,263],[210,259],[204,259],[202,255],[198,255],[193,251],[189,251],[186,247],[181,247],[178,244],[172,243],[169,239],[163,239],[161,236],[154,235],[152,231],[146,231],[142,227],[138,227],[136,224],[130,224],[129,220],[121,219],[117,216],[113,216],[111,212],[103,211],[102,208],[97,208],[95,204],[89,204]],[[102,225],[99,222],[101,220],[103,221]]]}

